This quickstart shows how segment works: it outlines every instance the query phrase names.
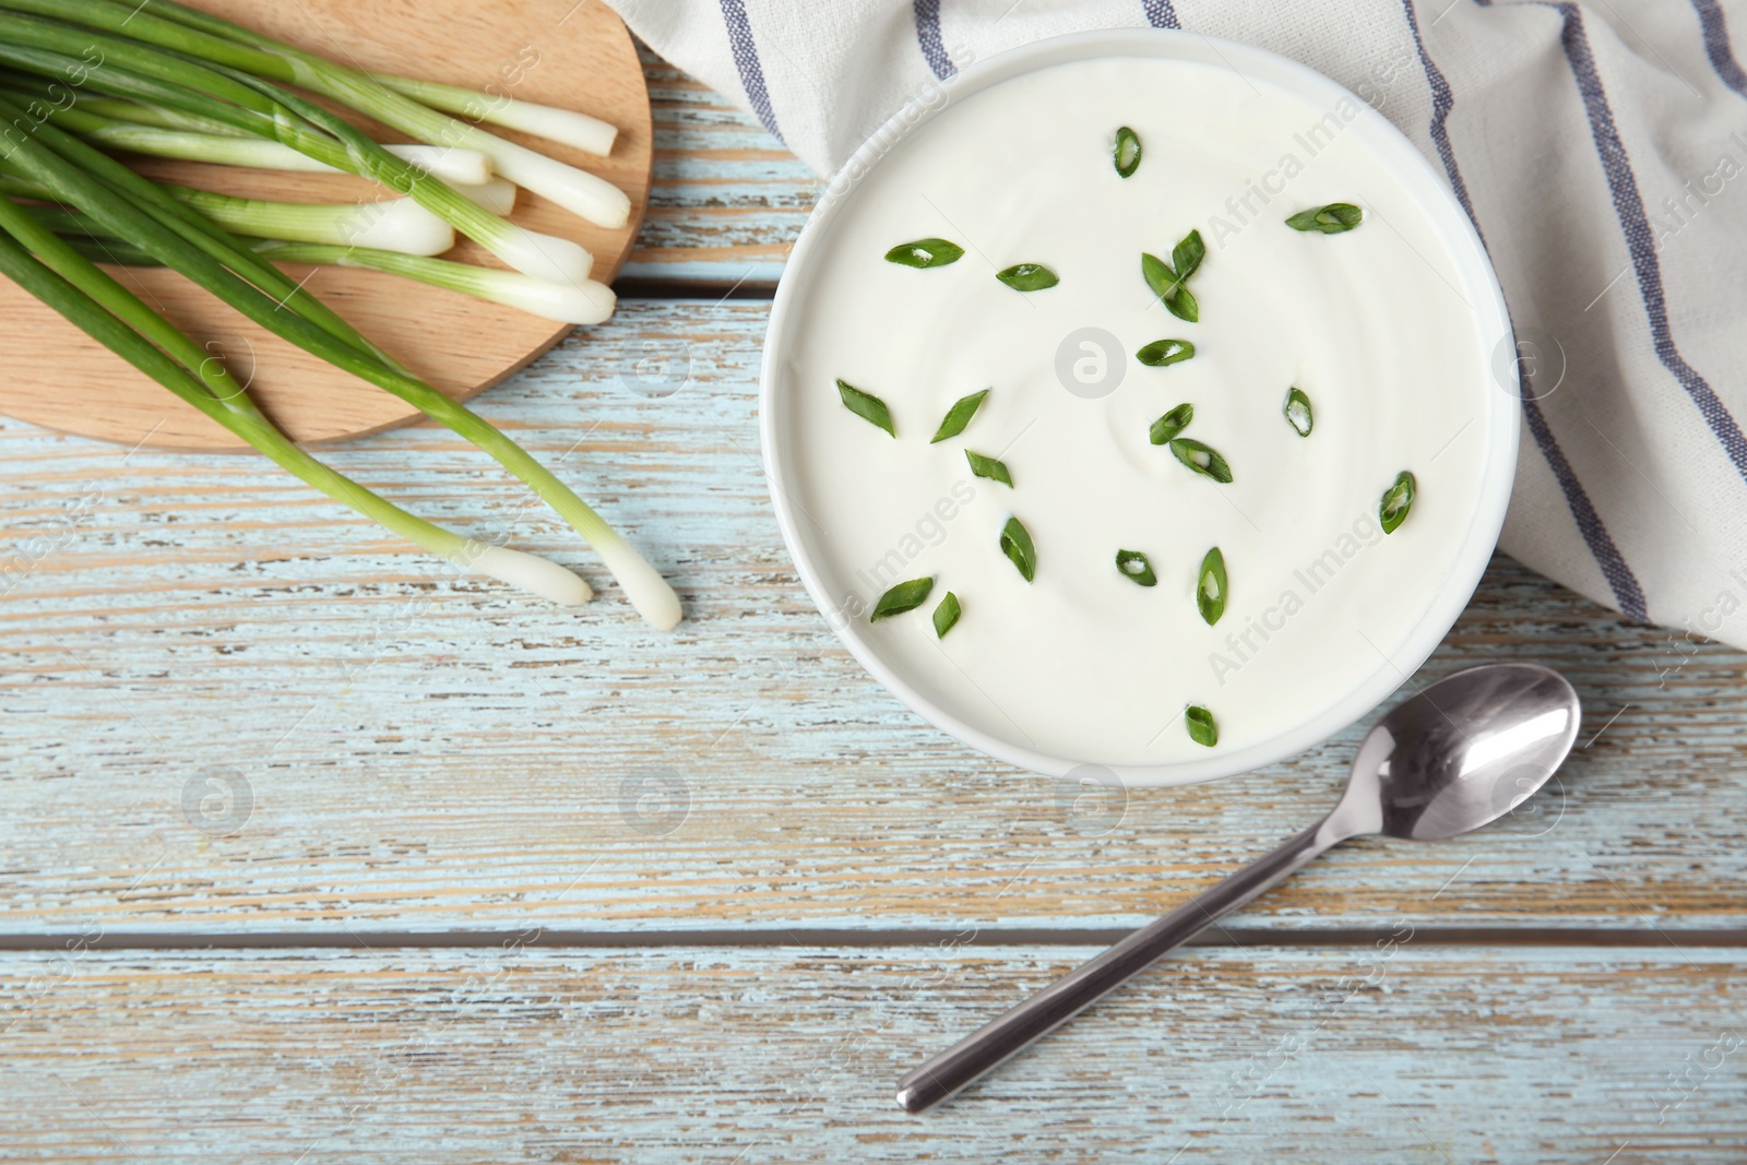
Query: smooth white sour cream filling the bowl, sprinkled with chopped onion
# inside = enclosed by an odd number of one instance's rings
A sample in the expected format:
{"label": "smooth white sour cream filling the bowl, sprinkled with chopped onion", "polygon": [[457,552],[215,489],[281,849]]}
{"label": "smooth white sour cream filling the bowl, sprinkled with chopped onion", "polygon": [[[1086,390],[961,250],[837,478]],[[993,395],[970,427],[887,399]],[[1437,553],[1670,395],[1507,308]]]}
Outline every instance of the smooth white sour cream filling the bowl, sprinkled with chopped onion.
{"label": "smooth white sour cream filling the bowl, sprinkled with chopped onion", "polygon": [[[1385,667],[1460,573],[1508,396],[1473,260],[1350,131],[1359,114],[1214,63],[1071,61],[956,100],[844,192],[779,369],[781,505],[830,617],[952,718],[1062,763],[1251,749]],[[1129,178],[1111,161],[1120,126],[1143,147]],[[1364,222],[1284,225],[1326,203]],[[1141,253],[1169,260],[1193,229],[1207,257],[1186,323]],[[884,259],[933,236],[964,257]],[[1060,283],[996,279],[1020,262]],[[1139,363],[1160,339],[1195,356]],[[844,407],[839,379],[886,402],[896,438]],[[1309,437],[1282,416],[1295,386]],[[931,444],[985,388],[966,430]],[[1184,402],[1183,437],[1219,451],[1230,484],[1148,440]],[[973,477],[966,451],[999,458],[1013,487]],[[1378,501],[1403,470],[1417,498],[1384,534]],[[1034,541],[1032,582],[999,548],[1010,517]],[[1230,580],[1216,625],[1195,603],[1211,547]],[[1144,552],[1158,583],[1125,578],[1118,550]],[[922,576],[921,608],[868,624],[886,589]],[[963,615],[938,638],[949,590]],[[1212,749],[1186,706],[1212,713]]]}

